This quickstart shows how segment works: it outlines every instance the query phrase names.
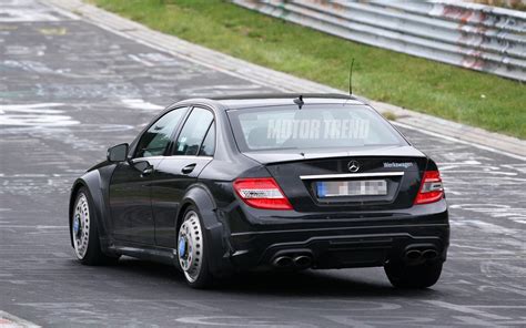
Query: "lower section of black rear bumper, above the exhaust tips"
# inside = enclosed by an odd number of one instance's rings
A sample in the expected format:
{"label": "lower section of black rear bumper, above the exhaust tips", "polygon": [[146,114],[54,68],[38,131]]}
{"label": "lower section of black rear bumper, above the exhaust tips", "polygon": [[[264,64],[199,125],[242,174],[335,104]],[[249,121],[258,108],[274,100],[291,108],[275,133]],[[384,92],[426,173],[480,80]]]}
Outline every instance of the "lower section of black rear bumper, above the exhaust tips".
{"label": "lower section of black rear bumper, above the exhaust tips", "polygon": [[[446,259],[447,224],[374,226],[328,230],[247,233],[231,237],[239,249],[231,260],[236,268],[269,267],[277,256],[310,254],[314,268],[383,266],[403,259],[409,247],[433,248]],[[241,247],[240,247],[241,246]]]}

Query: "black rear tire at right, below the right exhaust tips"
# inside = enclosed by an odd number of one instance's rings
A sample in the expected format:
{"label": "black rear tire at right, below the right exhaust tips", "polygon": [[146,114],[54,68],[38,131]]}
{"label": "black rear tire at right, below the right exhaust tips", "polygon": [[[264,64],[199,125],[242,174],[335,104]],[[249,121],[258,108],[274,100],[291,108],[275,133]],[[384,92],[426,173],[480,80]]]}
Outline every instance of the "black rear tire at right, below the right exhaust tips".
{"label": "black rear tire at right, below the right exhaust tips", "polygon": [[402,262],[388,263],[384,267],[391,284],[397,288],[427,288],[436,284],[442,274],[442,263],[406,265]]}

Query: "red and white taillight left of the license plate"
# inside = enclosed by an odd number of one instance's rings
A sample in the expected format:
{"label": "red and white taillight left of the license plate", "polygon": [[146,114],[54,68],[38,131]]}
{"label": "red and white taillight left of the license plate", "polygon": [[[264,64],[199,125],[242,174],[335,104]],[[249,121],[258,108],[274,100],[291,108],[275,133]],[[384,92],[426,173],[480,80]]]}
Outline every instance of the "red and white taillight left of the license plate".
{"label": "red and white taillight left of the license plate", "polygon": [[237,178],[234,181],[234,189],[252,207],[292,209],[291,203],[272,177]]}

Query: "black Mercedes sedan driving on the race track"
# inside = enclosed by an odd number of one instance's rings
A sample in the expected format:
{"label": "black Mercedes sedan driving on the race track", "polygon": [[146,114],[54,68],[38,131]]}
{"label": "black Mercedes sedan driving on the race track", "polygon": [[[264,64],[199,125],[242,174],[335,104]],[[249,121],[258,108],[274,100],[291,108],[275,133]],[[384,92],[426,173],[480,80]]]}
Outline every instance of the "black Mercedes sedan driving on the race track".
{"label": "black Mercedes sedan driving on the race track", "polygon": [[347,95],[192,99],[109,148],[71,189],[87,265],[175,265],[192,287],[234,271],[383,266],[396,287],[441,275],[447,204],[433,160]]}

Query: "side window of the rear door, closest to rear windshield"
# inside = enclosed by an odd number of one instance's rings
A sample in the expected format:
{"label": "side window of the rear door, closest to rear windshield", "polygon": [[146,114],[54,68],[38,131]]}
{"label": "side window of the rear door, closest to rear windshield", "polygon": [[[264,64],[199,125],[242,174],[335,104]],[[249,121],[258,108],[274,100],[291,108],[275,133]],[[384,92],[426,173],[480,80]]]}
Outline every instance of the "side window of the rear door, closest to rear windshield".
{"label": "side window of the rear door, closest to rear windshield", "polygon": [[174,155],[198,155],[203,143],[204,135],[212,123],[214,115],[212,112],[194,107],[186,119],[181,133],[175,143]]}

